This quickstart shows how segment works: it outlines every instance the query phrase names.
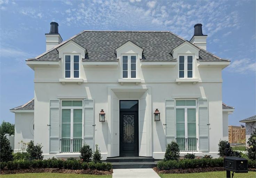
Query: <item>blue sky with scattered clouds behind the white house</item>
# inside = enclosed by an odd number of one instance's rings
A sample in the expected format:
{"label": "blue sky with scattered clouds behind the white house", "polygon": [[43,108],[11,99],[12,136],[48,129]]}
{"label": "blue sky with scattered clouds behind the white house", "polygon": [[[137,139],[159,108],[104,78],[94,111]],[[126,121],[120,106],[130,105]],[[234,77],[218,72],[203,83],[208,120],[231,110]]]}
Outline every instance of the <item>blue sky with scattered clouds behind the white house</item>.
{"label": "blue sky with scattered clouds behind the white house", "polygon": [[223,70],[223,102],[235,107],[229,124],[255,115],[255,1],[5,1],[0,0],[0,119],[34,96],[25,59],[45,52],[50,22],[66,40],[82,30],[171,31],[190,40],[203,24],[207,50],[230,59]]}

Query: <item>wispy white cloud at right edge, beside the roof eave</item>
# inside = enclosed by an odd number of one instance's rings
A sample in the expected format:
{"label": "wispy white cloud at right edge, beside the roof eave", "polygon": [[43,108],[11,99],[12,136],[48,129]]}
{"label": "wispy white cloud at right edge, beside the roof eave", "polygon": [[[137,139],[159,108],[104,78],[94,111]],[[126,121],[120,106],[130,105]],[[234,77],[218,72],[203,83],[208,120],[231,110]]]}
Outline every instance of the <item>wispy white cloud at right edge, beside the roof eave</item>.
{"label": "wispy white cloud at right edge, beside the roof eave", "polygon": [[256,62],[249,58],[237,59],[231,62],[228,69],[230,72],[237,72],[241,74],[256,72]]}

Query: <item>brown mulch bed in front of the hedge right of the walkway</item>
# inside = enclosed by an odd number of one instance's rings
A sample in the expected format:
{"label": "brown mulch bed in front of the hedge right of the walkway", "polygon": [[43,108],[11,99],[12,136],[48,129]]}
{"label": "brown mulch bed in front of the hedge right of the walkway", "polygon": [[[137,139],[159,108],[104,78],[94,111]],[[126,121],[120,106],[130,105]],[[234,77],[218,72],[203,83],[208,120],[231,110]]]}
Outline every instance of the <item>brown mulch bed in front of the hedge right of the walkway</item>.
{"label": "brown mulch bed in front of the hedge right of the walkway", "polygon": [[[197,172],[214,172],[214,171],[225,171],[223,167],[208,167],[208,168],[196,168],[196,169],[171,169],[171,170],[159,170],[157,167],[153,168],[157,173],[197,173]],[[256,169],[249,168],[249,171],[256,171]]]}

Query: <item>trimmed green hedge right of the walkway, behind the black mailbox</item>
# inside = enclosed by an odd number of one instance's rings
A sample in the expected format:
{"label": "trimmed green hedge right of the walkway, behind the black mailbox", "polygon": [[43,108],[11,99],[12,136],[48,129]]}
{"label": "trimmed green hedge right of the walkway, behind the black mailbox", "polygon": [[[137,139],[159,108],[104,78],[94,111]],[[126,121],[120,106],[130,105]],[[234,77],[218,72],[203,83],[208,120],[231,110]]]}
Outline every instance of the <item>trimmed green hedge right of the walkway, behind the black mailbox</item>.
{"label": "trimmed green hedge right of the walkway, behind the black mailbox", "polygon": [[[159,161],[157,168],[159,170],[170,169],[187,169],[187,168],[206,168],[206,167],[223,167],[223,158],[217,159],[182,159],[182,160],[169,160]],[[248,167],[255,168],[255,161],[248,160]]]}

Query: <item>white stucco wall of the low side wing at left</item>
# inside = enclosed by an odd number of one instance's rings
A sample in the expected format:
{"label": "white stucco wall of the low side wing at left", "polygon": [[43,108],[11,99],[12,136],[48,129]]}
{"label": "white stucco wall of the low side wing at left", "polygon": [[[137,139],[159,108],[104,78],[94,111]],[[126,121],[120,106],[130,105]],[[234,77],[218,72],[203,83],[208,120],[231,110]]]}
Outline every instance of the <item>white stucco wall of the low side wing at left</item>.
{"label": "white stucco wall of the low side wing at left", "polygon": [[21,144],[18,144],[21,143],[21,140],[25,143],[28,143],[30,140],[34,139],[33,123],[33,112],[15,113],[14,153],[17,153],[18,149],[21,149]]}

